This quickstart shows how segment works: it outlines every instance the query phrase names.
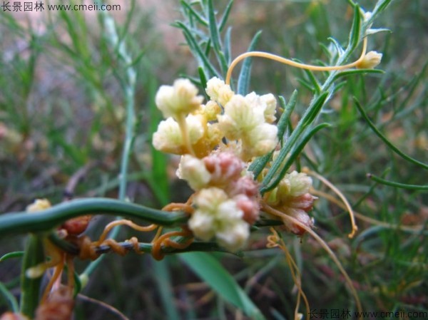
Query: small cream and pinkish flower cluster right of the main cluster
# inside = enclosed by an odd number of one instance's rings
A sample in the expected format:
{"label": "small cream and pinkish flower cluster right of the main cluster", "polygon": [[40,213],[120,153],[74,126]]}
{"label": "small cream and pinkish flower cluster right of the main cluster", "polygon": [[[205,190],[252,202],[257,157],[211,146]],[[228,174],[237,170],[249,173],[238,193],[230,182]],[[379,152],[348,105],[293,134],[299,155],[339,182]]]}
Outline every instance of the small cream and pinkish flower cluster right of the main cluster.
{"label": "small cream and pinkish flower cluster right of the main cluster", "polygon": [[[312,205],[317,197],[309,193],[312,179],[305,173],[293,171],[285,175],[274,190],[267,193],[265,201],[267,205],[275,207],[281,212],[294,217],[296,220],[313,227],[313,218],[307,212],[312,210]],[[297,224],[284,220],[285,227],[297,235],[305,233],[305,229]]]}

